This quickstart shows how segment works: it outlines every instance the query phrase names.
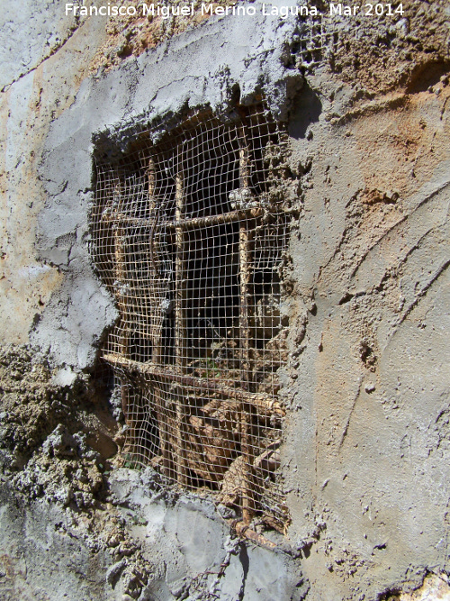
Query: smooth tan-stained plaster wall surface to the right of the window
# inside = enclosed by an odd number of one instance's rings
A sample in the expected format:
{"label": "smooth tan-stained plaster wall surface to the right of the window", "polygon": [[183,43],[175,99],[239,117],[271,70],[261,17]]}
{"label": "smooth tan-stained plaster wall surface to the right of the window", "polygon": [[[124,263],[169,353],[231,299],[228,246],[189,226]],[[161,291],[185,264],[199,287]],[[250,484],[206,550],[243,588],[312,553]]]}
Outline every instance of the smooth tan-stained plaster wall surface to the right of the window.
{"label": "smooth tan-stained plaster wall surface to the right of the window", "polygon": [[448,560],[447,94],[378,97],[311,124],[300,150],[284,463],[324,599]]}

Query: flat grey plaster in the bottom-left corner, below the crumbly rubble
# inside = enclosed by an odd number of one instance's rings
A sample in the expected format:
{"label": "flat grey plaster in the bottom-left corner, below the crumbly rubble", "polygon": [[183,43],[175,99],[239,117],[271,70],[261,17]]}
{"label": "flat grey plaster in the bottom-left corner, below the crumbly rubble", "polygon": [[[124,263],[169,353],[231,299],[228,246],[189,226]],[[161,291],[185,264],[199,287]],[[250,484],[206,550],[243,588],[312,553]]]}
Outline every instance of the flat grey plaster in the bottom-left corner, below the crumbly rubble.
{"label": "flat grey plaster in the bottom-left corner, below the crumbly rubble", "polygon": [[[58,601],[74,599],[74,591],[77,598],[86,601],[103,598],[107,555],[103,551],[94,555],[84,542],[68,536],[62,526],[68,529],[67,514],[58,505],[38,499],[23,507],[14,491],[2,482],[1,598]],[[62,572],[64,578],[54,578],[55,573]]]}

